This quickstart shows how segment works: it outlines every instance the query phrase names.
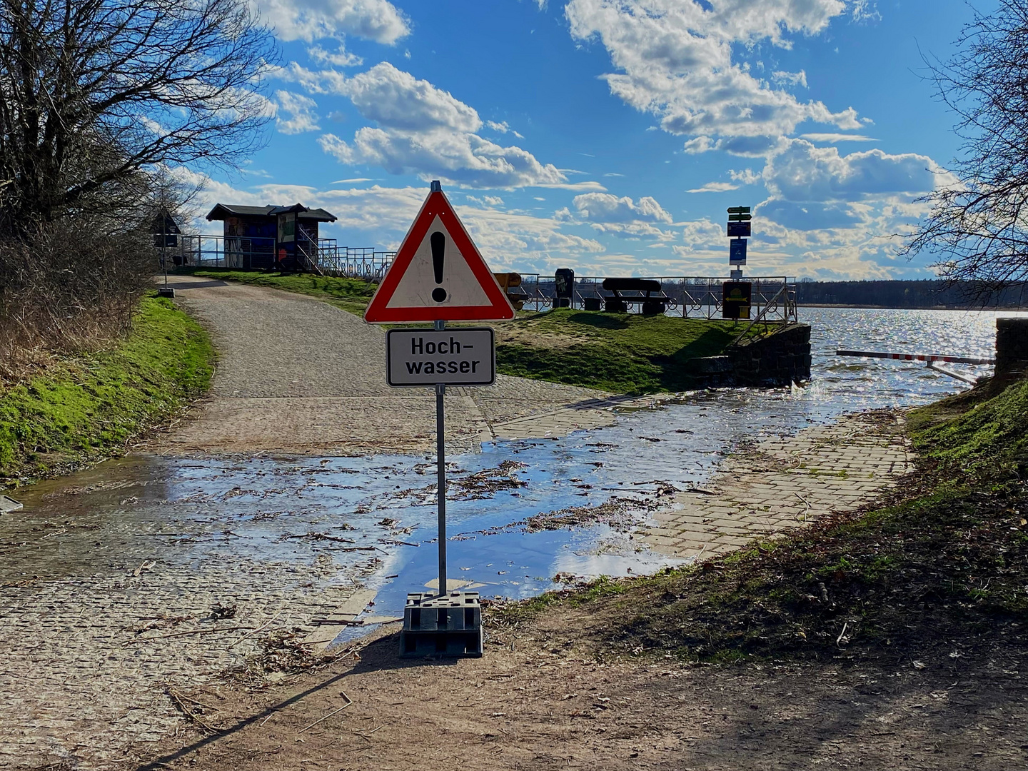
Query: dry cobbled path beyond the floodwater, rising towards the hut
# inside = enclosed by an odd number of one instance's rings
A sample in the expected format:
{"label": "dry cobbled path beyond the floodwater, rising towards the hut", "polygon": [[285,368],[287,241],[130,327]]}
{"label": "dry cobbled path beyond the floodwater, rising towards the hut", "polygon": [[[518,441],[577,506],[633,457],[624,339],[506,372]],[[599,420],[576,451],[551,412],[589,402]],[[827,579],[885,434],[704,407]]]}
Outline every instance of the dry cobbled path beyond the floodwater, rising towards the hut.
{"label": "dry cobbled path beyond the floodwater, rising towards the hut", "polygon": [[[420,452],[434,447],[430,389],[386,384],[386,335],[317,298],[201,277],[178,277],[176,302],[210,330],[219,353],[208,398],[157,439],[161,454],[304,455]],[[447,442],[560,436],[614,423],[603,392],[498,375],[447,390]],[[537,416],[536,420],[526,420]]]}

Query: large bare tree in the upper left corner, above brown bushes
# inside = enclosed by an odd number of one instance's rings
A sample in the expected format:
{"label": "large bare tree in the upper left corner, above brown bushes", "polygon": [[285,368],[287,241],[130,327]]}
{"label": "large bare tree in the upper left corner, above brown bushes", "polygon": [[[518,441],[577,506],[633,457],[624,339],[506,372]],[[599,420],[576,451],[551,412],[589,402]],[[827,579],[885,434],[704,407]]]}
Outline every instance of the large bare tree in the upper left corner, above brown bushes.
{"label": "large bare tree in the upper left corner, above brown bushes", "polygon": [[276,56],[245,0],[0,0],[0,235],[246,156]]}

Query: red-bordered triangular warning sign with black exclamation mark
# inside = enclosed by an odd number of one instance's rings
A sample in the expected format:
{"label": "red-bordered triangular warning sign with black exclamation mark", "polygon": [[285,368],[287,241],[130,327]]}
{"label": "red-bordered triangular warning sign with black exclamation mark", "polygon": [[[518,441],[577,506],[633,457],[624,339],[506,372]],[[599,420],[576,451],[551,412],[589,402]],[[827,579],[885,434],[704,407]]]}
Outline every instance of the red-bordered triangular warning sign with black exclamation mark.
{"label": "red-bordered triangular warning sign with black exclamation mark", "polygon": [[364,321],[397,324],[513,319],[514,307],[438,182],[378,285]]}

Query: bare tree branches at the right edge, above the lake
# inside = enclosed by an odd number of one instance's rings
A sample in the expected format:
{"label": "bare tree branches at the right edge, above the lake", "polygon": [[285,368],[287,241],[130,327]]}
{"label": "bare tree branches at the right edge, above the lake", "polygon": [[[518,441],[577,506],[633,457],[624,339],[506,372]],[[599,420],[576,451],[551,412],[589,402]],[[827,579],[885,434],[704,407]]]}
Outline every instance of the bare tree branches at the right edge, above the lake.
{"label": "bare tree branches at the right edge, above the lake", "polygon": [[958,116],[959,184],[924,200],[931,210],[903,254],[938,257],[943,278],[971,282],[979,299],[1028,280],[1028,4],[976,11],[948,62],[928,62],[938,96]]}

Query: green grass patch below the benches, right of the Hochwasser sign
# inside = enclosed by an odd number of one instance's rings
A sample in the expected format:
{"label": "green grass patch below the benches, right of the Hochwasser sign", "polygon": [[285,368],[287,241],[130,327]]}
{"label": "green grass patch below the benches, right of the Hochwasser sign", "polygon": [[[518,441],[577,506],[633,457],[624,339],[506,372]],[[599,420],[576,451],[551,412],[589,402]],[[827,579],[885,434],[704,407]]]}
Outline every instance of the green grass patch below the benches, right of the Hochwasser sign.
{"label": "green grass patch below the benches, right of the Hochwasser sign", "polygon": [[724,354],[742,329],[725,321],[556,308],[498,325],[497,367],[619,394],[687,391],[700,383],[694,360]]}

